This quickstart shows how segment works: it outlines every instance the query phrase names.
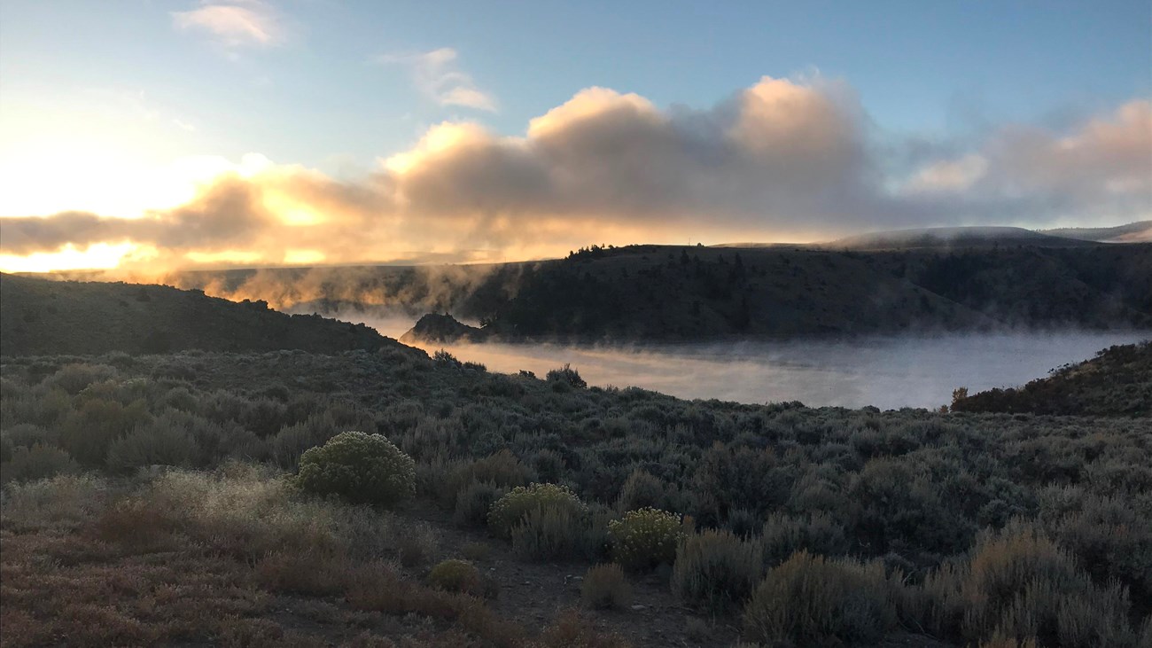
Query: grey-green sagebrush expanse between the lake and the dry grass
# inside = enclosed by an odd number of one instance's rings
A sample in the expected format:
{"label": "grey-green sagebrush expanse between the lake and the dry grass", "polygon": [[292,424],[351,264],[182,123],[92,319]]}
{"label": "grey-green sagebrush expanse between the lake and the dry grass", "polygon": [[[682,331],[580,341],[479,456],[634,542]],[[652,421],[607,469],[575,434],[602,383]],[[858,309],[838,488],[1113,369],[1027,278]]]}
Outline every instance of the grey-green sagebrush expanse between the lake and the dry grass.
{"label": "grey-green sagebrush expanse between the lake and the dry grass", "polygon": [[[806,572],[841,580],[880,562],[903,571],[908,585],[896,600],[907,627],[956,643],[1013,636],[1084,645],[1089,632],[1126,646],[1144,632],[1132,617],[1144,608],[1132,602],[1152,596],[1150,420],[688,402],[637,389],[576,389],[562,372],[548,382],[434,364],[394,353],[5,359],[5,493],[30,497],[25,485],[38,483],[30,480],[83,479],[68,476],[81,470],[233,460],[295,470],[340,430],[387,430],[393,447],[412,458],[420,492],[461,523],[487,521],[526,557],[612,555],[645,568],[665,551],[658,560],[674,565],[677,594],[702,609],[741,603],[714,593],[746,586],[717,583],[758,548],[757,579],[797,552],[833,565]],[[325,464],[344,466],[332,474],[361,473],[358,459]],[[552,483],[529,485],[544,481]],[[616,518],[644,507],[674,511],[704,530],[681,542],[683,525],[666,513],[672,520],[655,535],[674,540],[629,552],[616,541],[631,537],[632,514]],[[406,562],[434,563],[439,556],[423,550],[418,535],[403,534]],[[389,551],[388,559],[400,557],[399,547]],[[992,557],[1000,555],[1016,558],[998,566]],[[1016,571],[1031,575],[994,577]],[[1010,595],[990,594],[999,588]],[[791,609],[808,609],[801,601]],[[838,641],[858,634],[843,630],[851,623],[829,624],[814,634],[781,632]]]}

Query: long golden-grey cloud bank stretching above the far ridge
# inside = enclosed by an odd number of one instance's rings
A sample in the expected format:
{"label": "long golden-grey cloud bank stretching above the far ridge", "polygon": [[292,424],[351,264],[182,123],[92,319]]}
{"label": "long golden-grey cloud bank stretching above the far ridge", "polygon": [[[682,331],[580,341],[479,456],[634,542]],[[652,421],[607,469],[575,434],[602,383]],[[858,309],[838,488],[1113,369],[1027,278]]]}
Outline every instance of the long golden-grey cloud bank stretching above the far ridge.
{"label": "long golden-grey cloud bank stretching above the far ridge", "polygon": [[501,261],[590,242],[813,240],[1152,214],[1149,100],[1068,131],[1005,126],[915,165],[889,159],[892,137],[850,86],[820,77],[764,77],[704,110],[589,88],[520,136],[434,126],[357,181],[270,165],[225,174],[188,204],[143,219],[2,218],[0,253],[130,242],[134,258],[166,265]]}

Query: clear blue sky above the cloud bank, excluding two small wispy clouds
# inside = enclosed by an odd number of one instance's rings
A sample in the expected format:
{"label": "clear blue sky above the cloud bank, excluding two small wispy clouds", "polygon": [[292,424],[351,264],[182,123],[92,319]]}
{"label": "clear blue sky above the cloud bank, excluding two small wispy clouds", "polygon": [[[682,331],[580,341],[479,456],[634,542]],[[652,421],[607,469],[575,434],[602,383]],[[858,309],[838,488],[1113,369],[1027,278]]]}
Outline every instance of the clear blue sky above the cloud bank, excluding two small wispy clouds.
{"label": "clear blue sky above the cloud bank, excluding two small wispy clouds", "polygon": [[[173,151],[325,166],[388,155],[445,119],[522,133],[591,85],[702,107],[761,75],[819,70],[848,81],[884,128],[934,136],[1152,93],[1147,1],[721,5],[286,1],[285,42],[234,59],[173,27],[196,2],[9,0],[0,90],[5,104],[37,106],[142,92],[196,127],[170,134]],[[440,47],[456,50],[497,113],[439,106],[401,66],[370,63]]]}

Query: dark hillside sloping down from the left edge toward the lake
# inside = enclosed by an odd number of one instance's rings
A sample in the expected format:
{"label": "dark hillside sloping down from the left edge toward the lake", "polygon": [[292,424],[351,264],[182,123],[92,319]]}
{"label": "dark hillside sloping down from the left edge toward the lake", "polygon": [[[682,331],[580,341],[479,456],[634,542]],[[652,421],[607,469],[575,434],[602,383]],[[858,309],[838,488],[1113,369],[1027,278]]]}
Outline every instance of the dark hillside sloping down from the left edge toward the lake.
{"label": "dark hillside sloping down from the left edge toward the lake", "polygon": [[167,286],[0,276],[0,354],[401,347],[364,325]]}

